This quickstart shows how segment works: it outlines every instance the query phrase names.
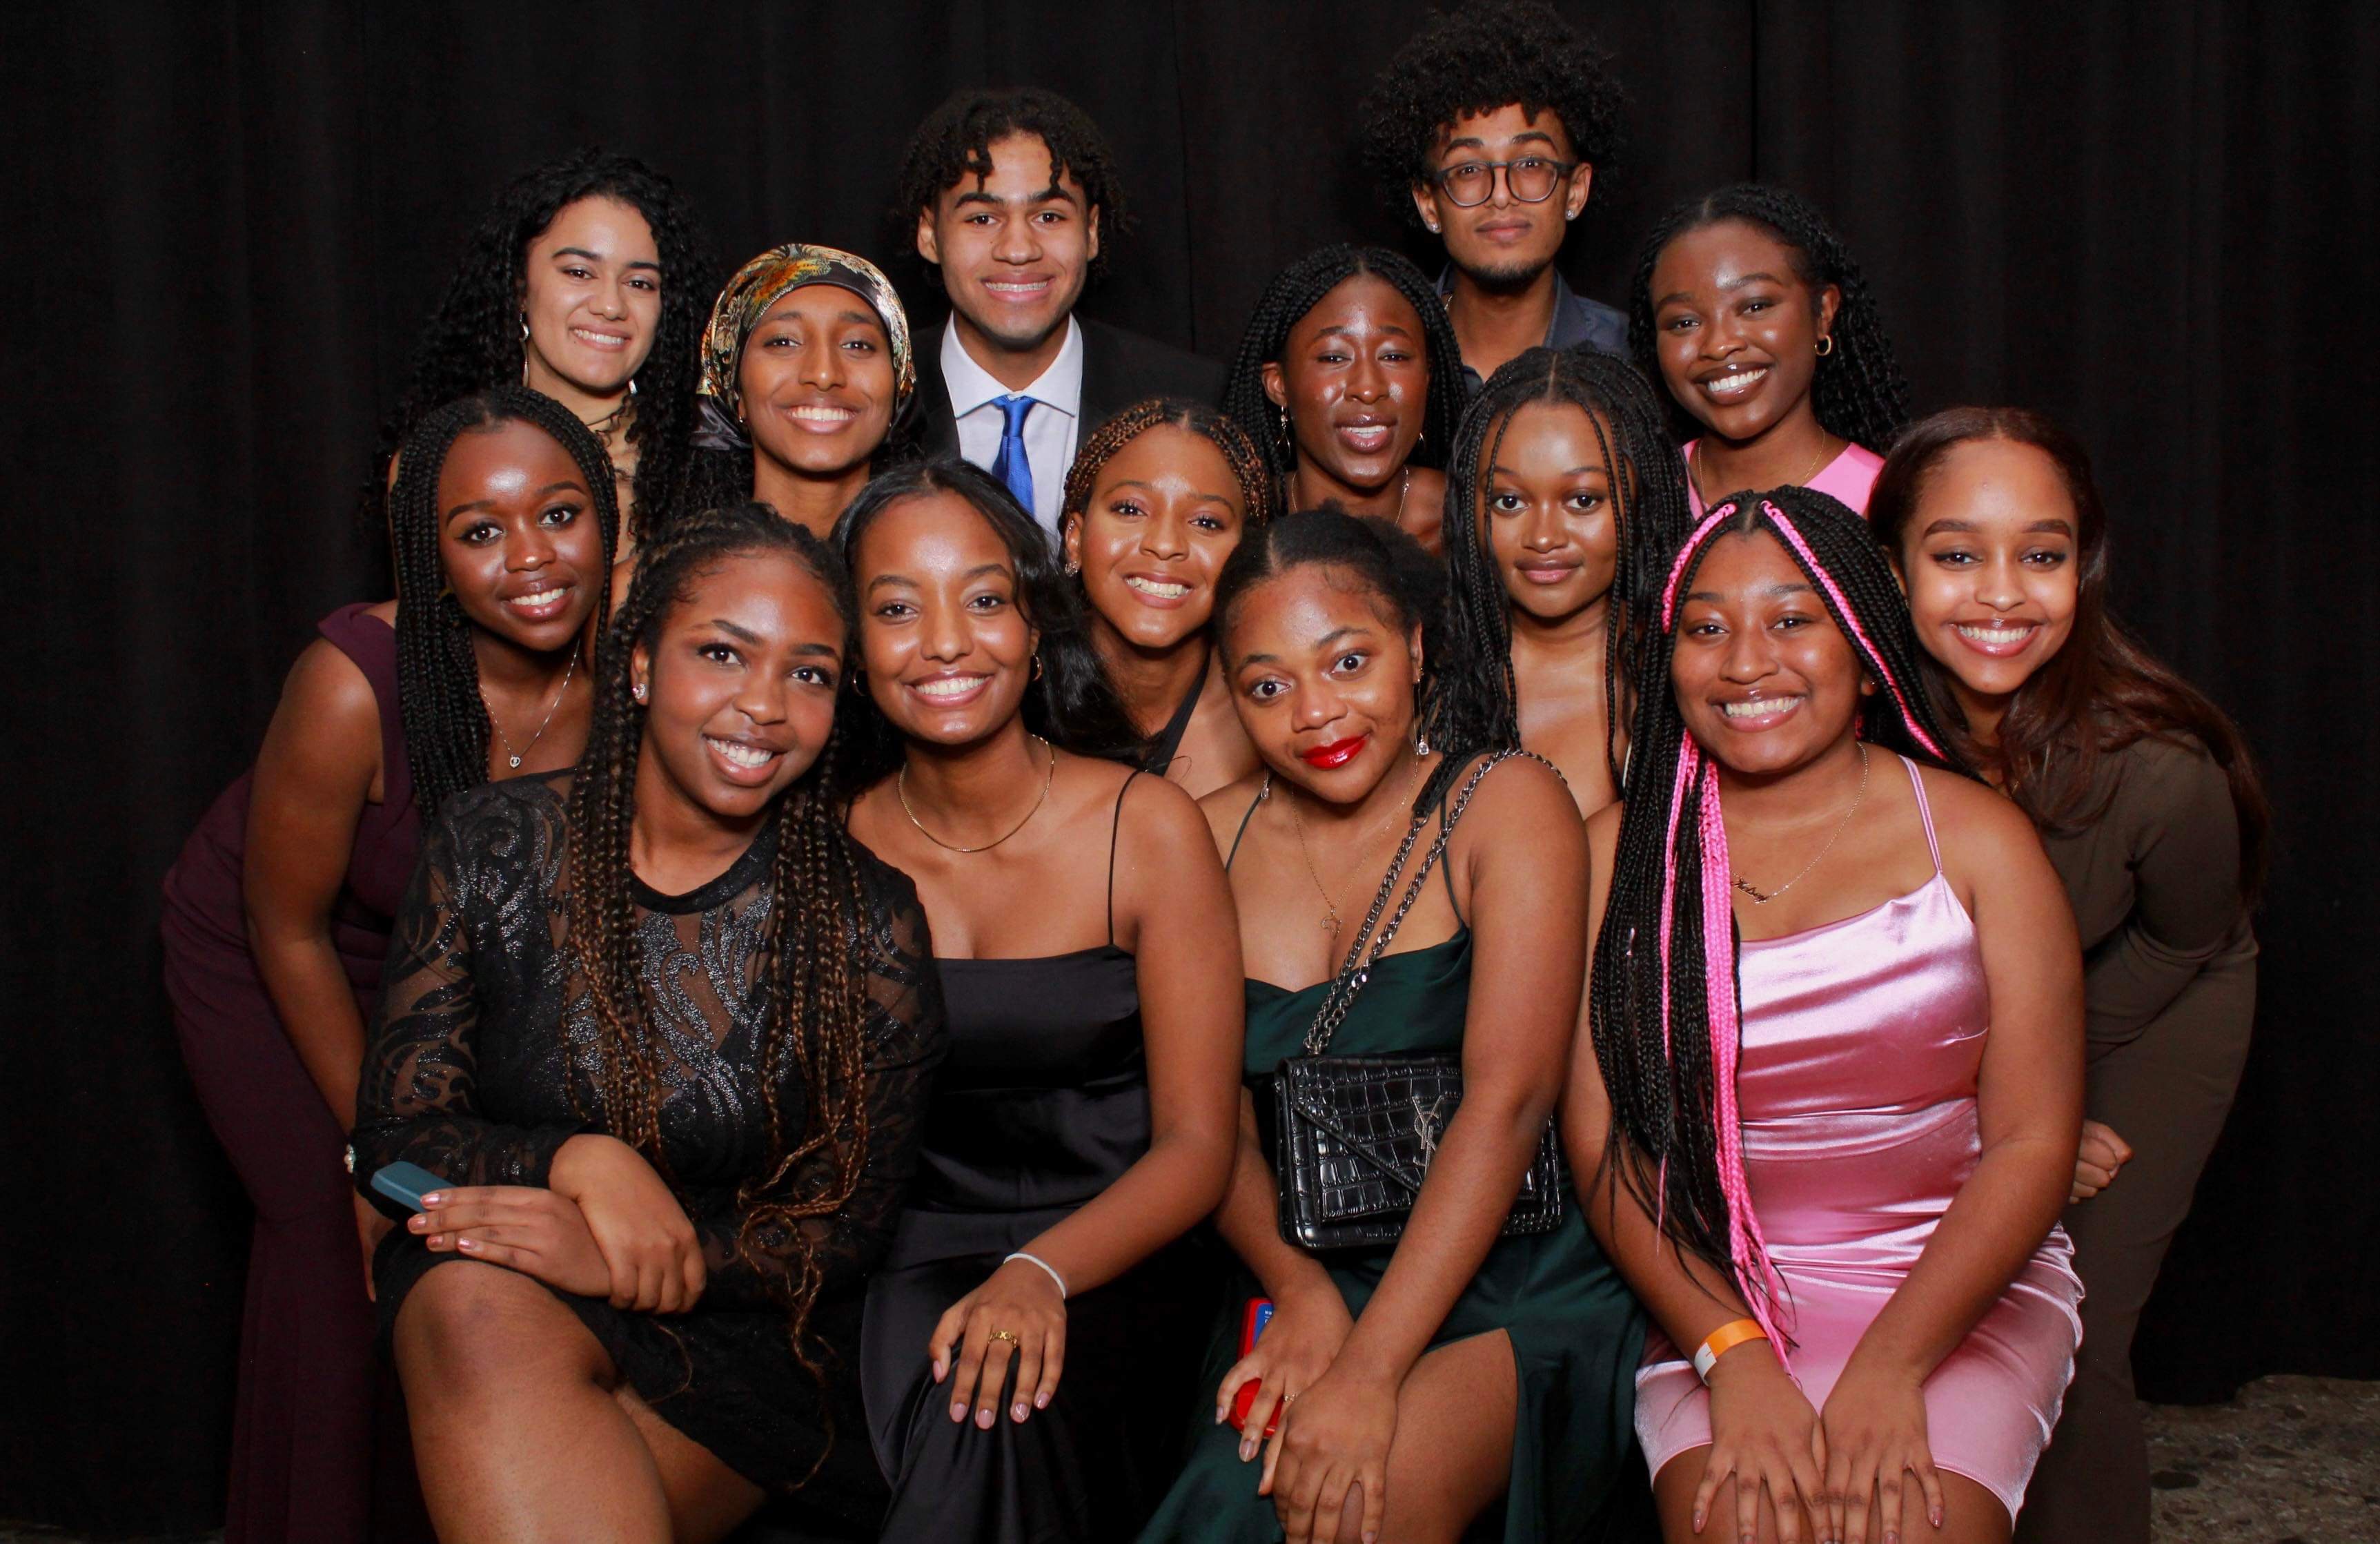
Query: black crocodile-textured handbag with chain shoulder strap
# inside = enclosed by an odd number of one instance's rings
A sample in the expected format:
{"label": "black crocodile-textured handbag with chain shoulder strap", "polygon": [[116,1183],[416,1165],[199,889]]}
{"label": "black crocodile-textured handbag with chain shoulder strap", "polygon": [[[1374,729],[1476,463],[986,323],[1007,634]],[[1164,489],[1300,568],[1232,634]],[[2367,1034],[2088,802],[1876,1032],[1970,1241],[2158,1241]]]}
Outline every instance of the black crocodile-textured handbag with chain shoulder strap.
{"label": "black crocodile-textured handbag with chain shoulder strap", "polygon": [[[1323,1006],[1307,1030],[1304,1054],[1290,1056],[1273,1075],[1276,1163],[1280,1175],[1280,1237],[1307,1249],[1380,1249],[1404,1235],[1404,1218],[1421,1197],[1421,1182],[1438,1154],[1454,1109],[1464,1099],[1461,1056],[1328,1056],[1330,1035],[1388,952],[1397,925],[1421,897],[1430,868],[1445,856],[1447,837],[1480,778],[1497,761],[1523,752],[1488,757],[1447,806],[1438,840],[1421,859],[1421,871],[1404,890],[1397,911],[1380,925],[1397,875],[1414,852],[1428,821],[1414,814],[1404,845],[1380,880],[1380,895],[1364,918],[1347,964],[1340,968]],[[1378,928],[1378,935],[1373,933]],[[1552,1123],[1537,1142],[1537,1154],[1521,1178],[1521,1194],[1504,1218],[1504,1235],[1552,1232],[1561,1223],[1561,1192],[1568,1175]]]}

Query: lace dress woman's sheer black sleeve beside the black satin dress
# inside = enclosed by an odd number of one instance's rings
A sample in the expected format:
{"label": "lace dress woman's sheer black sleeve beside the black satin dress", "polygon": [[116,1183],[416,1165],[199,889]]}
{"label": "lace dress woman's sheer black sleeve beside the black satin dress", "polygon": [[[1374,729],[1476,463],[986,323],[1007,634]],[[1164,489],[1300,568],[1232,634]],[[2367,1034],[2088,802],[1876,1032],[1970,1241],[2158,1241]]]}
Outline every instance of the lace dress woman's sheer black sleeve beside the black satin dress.
{"label": "lace dress woman's sheer black sleeve beside the black satin dress", "polygon": [[[933,968],[933,935],[916,887],[895,868],[859,852],[869,892],[866,1028],[866,1161],[850,1201],[795,1228],[821,1270],[819,1294],[857,1289],[892,1242],[909,1178],[916,1170],[933,1071],[942,1061],[942,985]],[[812,1175],[795,1175],[795,1194]],[[693,1216],[702,1237],[709,1287],[702,1304],[714,1308],[783,1306],[800,1280],[802,1247],[790,1228],[762,1228],[738,1247],[743,1211],[733,1199]]]}

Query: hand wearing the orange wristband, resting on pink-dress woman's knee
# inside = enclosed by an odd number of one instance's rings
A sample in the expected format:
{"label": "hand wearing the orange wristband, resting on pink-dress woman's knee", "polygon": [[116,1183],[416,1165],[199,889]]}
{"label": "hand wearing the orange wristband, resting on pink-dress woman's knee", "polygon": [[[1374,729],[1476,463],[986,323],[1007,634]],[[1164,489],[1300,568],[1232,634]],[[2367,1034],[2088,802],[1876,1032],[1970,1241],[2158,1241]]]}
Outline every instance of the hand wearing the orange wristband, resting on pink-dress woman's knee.
{"label": "hand wearing the orange wristband, resting on pink-dress woman's knee", "polygon": [[1759,1537],[1761,1492],[1775,1508],[1780,1544],[1837,1537],[1828,1532],[1825,1430],[1766,1339],[1745,1342],[1711,1363],[1711,1446],[1695,1487],[1697,1534],[1728,1475],[1735,1475],[1737,1539]]}

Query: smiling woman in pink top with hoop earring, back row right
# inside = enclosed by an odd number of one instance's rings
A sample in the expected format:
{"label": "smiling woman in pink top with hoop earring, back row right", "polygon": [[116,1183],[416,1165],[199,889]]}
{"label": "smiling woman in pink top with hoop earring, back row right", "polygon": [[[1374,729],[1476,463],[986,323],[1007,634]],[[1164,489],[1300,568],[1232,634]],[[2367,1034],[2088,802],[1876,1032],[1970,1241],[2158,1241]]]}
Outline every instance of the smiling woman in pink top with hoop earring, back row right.
{"label": "smiling woman in pink top with hoop earring, back row right", "polygon": [[1695,519],[1730,488],[1780,485],[1861,511],[1909,419],[1866,274],[1787,188],[1721,188],[1654,226],[1628,350],[1668,390]]}

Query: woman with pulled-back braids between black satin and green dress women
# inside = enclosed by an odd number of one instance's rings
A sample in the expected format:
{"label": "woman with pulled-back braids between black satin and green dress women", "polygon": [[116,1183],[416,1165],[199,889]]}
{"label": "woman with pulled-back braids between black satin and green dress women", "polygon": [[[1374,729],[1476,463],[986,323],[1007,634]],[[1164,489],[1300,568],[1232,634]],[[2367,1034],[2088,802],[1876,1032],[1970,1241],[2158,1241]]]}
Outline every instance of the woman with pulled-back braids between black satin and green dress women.
{"label": "woman with pulled-back braids between black satin and green dress women", "polygon": [[1273,514],[1273,481],[1240,426],[1204,402],[1150,397],[1102,423],[1066,473],[1059,547],[1090,640],[1147,735],[1142,771],[1192,799],[1257,752],[1214,652],[1214,580]]}

